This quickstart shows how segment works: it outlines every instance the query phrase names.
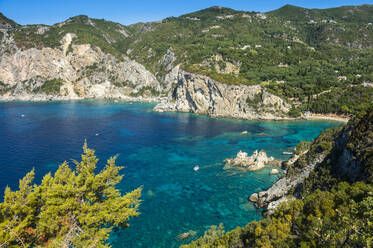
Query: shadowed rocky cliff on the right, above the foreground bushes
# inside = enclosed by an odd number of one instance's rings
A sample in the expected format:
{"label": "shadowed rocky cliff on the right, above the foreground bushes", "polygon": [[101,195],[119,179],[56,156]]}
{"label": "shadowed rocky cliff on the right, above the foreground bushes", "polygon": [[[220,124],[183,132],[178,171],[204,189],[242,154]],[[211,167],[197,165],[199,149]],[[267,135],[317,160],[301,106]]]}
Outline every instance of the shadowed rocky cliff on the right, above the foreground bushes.
{"label": "shadowed rocky cliff on the right, above the foreground bushes", "polygon": [[347,126],[326,130],[309,149],[285,161],[286,173],[259,193],[257,207],[271,213],[289,198],[302,198],[316,189],[328,190],[340,181],[373,182],[373,111],[367,110]]}

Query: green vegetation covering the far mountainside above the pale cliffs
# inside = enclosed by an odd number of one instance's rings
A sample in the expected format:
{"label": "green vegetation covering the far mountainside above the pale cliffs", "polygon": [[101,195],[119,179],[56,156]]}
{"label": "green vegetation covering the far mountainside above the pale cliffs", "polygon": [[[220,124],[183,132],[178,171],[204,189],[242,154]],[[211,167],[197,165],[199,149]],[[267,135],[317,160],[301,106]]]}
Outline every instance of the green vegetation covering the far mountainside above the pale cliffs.
{"label": "green vegetation covering the far mountainside above the pale cliffs", "polygon": [[[129,56],[160,81],[172,68],[163,59],[170,50],[173,66],[186,71],[228,84],[266,82],[267,91],[293,102],[291,116],[353,115],[373,99],[373,87],[363,86],[373,82],[372,13],[373,5],[286,5],[264,14],[211,7],[130,26],[81,15],[53,26],[11,24],[16,28],[10,32],[23,48],[59,47],[73,33],[73,44]],[[237,71],[220,70],[228,64]]]}

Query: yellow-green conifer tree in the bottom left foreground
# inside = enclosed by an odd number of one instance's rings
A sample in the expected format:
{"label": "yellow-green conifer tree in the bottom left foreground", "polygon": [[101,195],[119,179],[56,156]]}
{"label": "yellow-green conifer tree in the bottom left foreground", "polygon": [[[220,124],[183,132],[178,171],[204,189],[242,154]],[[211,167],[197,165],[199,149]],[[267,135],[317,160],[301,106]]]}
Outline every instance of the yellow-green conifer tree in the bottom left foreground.
{"label": "yellow-green conifer tree in the bottom left foreground", "polygon": [[139,215],[141,188],[121,196],[116,156],[95,174],[98,159],[84,144],[76,170],[64,162],[41,185],[32,185],[32,170],[19,190],[5,189],[0,203],[0,247],[110,247],[113,229],[129,226]]}

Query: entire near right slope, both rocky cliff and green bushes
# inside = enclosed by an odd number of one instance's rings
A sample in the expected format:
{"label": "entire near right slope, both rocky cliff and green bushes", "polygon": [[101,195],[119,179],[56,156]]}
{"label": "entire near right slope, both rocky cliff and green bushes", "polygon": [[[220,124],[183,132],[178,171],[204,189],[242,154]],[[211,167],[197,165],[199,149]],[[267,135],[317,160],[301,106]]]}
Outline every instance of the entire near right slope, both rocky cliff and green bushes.
{"label": "entire near right slope, both rocky cliff and green bushes", "polygon": [[[192,247],[370,247],[373,233],[373,109],[301,143],[265,192],[268,216],[228,233],[212,227]],[[250,197],[250,199],[254,199]]]}

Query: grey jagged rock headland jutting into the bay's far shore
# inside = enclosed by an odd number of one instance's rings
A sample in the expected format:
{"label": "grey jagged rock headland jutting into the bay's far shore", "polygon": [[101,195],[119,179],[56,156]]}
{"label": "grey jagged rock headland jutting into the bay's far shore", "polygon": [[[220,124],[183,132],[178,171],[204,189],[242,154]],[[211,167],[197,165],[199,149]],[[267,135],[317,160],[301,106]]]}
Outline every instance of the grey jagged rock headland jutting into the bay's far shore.
{"label": "grey jagged rock headland jutting into the bay's far shore", "polygon": [[[290,105],[259,85],[222,84],[207,76],[188,73],[175,67],[165,77],[173,89],[156,111],[180,111],[214,117],[241,119],[284,119]],[[175,85],[176,84],[176,85]]]}

